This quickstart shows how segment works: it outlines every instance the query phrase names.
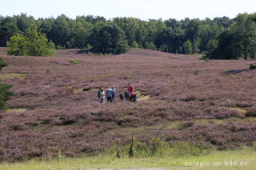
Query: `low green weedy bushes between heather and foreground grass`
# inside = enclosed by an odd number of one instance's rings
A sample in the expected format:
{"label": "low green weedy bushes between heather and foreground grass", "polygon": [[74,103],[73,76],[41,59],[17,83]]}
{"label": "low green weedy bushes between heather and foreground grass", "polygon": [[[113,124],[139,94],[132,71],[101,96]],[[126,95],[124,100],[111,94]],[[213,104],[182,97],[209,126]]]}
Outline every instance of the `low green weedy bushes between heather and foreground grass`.
{"label": "low green weedy bushes between heather and foreground grass", "polygon": [[205,147],[202,140],[197,143],[191,141],[178,141],[172,144],[166,140],[162,140],[159,137],[155,137],[153,140],[148,142],[141,142],[132,140],[130,144],[118,149],[114,145],[110,148],[110,155],[114,158],[119,155],[120,157],[163,157],[163,156],[199,156],[206,155],[210,152]]}

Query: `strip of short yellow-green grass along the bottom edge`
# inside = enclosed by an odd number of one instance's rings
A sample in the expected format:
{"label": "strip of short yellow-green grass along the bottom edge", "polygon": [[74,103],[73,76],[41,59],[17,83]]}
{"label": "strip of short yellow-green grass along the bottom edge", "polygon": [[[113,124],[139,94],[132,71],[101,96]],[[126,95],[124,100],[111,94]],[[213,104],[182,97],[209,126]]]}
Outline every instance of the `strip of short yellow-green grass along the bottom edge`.
{"label": "strip of short yellow-green grass along the bottom edge", "polygon": [[[225,164],[231,161],[238,165]],[[243,162],[243,165],[240,165]],[[201,164],[197,164],[201,163]],[[217,164],[218,163],[218,164]],[[246,165],[245,165],[246,163]],[[206,165],[209,164],[209,165]],[[254,170],[256,167],[256,151],[245,148],[234,151],[216,151],[205,156],[166,156],[147,158],[120,158],[110,156],[84,156],[79,158],[63,158],[62,160],[38,161],[0,165],[0,169],[88,169],[88,168],[162,168],[162,169],[247,169]]]}

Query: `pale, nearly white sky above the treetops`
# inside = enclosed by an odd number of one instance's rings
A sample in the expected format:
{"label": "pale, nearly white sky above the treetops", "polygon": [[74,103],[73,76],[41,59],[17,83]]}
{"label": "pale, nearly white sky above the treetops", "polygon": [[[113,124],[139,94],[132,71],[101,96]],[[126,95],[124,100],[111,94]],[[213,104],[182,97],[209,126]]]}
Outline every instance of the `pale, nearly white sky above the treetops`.
{"label": "pale, nearly white sky above the treetops", "polygon": [[255,0],[0,0],[0,15],[26,13],[34,18],[78,15],[134,17],[142,20],[175,18],[235,18],[256,12]]}

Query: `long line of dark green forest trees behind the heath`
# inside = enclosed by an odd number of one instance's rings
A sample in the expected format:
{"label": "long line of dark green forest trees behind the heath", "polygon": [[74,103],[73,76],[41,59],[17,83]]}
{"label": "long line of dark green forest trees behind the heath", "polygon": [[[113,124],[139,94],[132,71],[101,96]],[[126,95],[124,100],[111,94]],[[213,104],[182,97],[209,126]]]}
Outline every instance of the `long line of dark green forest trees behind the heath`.
{"label": "long line of dark green forest trees behind the heath", "polygon": [[[20,14],[0,17],[0,46],[36,25],[56,49],[86,49],[94,53],[124,53],[129,47],[158,49],[168,53],[205,53],[210,58],[254,58],[255,24],[250,14],[237,18],[181,21],[162,19],[78,16],[38,18]],[[246,52],[248,51],[248,52]]]}

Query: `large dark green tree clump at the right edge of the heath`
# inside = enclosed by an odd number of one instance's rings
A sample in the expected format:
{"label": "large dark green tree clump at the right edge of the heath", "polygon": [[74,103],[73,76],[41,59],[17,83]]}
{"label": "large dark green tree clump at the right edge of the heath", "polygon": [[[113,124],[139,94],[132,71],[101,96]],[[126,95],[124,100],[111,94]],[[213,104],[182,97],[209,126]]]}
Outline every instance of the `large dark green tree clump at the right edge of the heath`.
{"label": "large dark green tree clump at the right edge of the heath", "polygon": [[249,14],[238,14],[236,22],[218,36],[217,47],[206,57],[216,59],[256,58],[256,24]]}

